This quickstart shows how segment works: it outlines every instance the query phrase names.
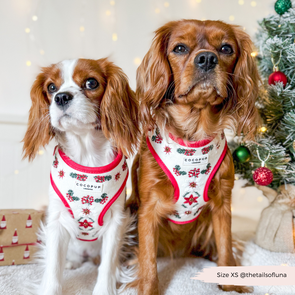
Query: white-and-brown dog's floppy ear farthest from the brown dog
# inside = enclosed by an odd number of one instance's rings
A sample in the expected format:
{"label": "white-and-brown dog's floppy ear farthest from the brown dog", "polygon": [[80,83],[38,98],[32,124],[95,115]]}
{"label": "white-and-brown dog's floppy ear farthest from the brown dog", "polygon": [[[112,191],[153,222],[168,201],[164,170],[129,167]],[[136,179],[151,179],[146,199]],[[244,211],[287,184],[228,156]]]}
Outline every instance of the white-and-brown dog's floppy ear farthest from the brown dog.
{"label": "white-and-brown dog's floppy ear farthest from the brown dog", "polygon": [[50,125],[49,100],[43,89],[45,80],[45,73],[40,73],[31,88],[32,106],[27,132],[22,140],[24,142],[23,158],[29,157],[29,161],[35,158],[41,146],[47,145],[54,137]]}

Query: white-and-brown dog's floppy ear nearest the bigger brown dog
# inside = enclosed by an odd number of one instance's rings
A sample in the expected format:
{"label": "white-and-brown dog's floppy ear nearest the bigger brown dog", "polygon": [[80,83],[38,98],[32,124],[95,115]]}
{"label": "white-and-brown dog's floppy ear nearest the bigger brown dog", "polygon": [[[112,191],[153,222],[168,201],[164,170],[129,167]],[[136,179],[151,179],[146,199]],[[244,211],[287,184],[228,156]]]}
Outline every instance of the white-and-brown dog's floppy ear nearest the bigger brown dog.
{"label": "white-and-brown dog's floppy ear nearest the bigger brown dog", "polygon": [[104,68],[106,90],[100,105],[101,128],[124,155],[133,155],[140,139],[138,100],[121,68],[108,60],[104,60]]}

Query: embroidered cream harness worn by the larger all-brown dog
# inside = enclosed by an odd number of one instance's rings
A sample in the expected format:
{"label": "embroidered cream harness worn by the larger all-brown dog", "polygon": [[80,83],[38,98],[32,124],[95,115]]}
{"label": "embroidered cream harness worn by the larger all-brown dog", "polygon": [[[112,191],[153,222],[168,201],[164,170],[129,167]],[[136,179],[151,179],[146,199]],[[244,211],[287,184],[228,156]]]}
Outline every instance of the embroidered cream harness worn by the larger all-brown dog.
{"label": "embroidered cream harness worn by the larger all-brown dog", "polygon": [[209,200],[210,181],[227,150],[224,132],[213,140],[185,143],[172,135],[165,138],[156,127],[150,131],[147,144],[174,187],[175,212],[168,220],[177,224],[196,220]]}

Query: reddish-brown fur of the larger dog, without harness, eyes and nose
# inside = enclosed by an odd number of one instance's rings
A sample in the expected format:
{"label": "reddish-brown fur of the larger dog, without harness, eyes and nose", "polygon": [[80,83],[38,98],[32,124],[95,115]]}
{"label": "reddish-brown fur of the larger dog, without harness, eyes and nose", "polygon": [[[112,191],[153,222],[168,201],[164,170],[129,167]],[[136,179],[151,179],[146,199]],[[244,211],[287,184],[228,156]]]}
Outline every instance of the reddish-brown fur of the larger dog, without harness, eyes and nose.
{"label": "reddish-brown fur of the larger dog, without harness, eyes and nose", "polygon": [[[201,215],[188,224],[166,219],[174,211],[174,188],[146,144],[155,122],[184,141],[214,137],[224,128],[256,132],[255,100],[259,76],[251,57],[252,43],[238,26],[221,21],[180,20],[156,30],[150,50],[137,69],[136,94],[141,101],[143,128],[133,173],[132,196],[127,206],[138,214],[140,295],[158,295],[156,257],[203,256],[217,259],[219,266],[235,266],[231,238],[231,191],[234,165],[230,150],[212,179],[210,200]],[[229,45],[230,54],[222,47]],[[177,54],[175,49],[185,47]],[[183,50],[183,48],[181,49]],[[214,53],[218,64],[210,73],[196,65],[202,52]],[[222,286],[223,290],[249,291],[245,286]]]}

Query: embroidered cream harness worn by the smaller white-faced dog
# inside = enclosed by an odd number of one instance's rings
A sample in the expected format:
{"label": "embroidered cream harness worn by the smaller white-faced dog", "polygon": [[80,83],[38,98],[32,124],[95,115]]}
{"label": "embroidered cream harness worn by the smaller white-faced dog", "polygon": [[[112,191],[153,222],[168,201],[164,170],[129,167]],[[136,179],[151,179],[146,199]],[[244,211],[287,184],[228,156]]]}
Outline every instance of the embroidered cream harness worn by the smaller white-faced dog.
{"label": "embroidered cream harness worn by the smaller white-faced dog", "polygon": [[51,185],[77,221],[83,241],[98,238],[106,211],[125,189],[128,166],[122,153],[102,167],[85,167],[56,149],[51,168]]}

